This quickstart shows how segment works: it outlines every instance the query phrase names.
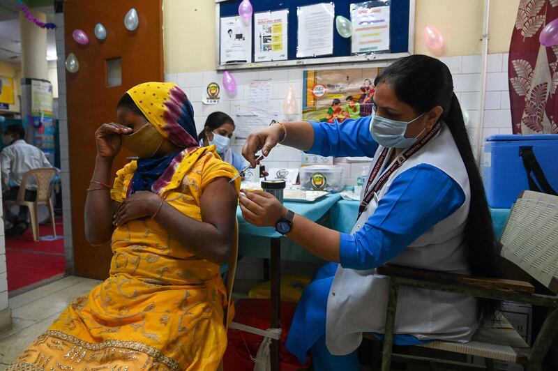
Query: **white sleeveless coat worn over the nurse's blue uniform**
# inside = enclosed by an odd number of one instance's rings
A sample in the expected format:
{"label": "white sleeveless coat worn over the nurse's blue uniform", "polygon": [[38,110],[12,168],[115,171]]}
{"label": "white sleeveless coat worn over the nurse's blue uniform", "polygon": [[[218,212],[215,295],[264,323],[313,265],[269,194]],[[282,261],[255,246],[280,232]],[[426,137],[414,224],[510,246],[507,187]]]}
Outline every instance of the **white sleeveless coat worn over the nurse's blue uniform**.
{"label": "white sleeveless coat worn over the nurse's blue uniform", "polygon": [[[376,160],[383,149],[382,146],[377,149]],[[391,153],[387,158],[389,156]],[[405,248],[390,264],[469,273],[464,241],[470,202],[469,177],[445,124],[434,139],[391,174],[356,221],[352,234],[374,213],[379,199],[398,174],[420,164],[432,165],[451,176],[465,193],[465,202]],[[370,169],[374,165],[375,161]],[[376,179],[381,175],[377,174]],[[329,292],[326,315],[326,345],[331,354],[344,355],[354,351],[361,343],[363,332],[384,333],[389,278],[375,272],[375,269],[359,271],[338,267]],[[395,333],[410,334],[419,339],[466,342],[478,327],[476,306],[477,301],[471,296],[400,287]]]}

